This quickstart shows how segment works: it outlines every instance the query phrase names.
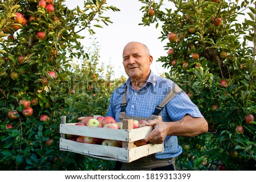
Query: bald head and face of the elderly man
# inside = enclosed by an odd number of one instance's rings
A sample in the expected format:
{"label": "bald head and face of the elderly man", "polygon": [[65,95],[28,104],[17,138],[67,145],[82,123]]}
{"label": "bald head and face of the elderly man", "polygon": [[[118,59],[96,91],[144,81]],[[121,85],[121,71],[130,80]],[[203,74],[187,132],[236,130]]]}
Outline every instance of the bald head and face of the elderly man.
{"label": "bald head and face of the elderly man", "polygon": [[123,49],[123,66],[132,80],[147,80],[152,56],[141,43],[129,43]]}

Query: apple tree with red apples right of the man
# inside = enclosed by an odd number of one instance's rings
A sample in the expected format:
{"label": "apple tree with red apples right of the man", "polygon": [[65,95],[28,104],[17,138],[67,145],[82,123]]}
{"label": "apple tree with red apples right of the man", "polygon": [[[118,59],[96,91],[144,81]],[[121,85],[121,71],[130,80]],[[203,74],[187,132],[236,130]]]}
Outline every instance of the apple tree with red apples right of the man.
{"label": "apple tree with red apples right of the man", "polygon": [[[254,1],[139,0],[143,26],[160,28],[159,58],[208,121],[208,133],[179,137],[185,170],[253,170],[256,164]],[[240,19],[242,18],[242,19]]]}

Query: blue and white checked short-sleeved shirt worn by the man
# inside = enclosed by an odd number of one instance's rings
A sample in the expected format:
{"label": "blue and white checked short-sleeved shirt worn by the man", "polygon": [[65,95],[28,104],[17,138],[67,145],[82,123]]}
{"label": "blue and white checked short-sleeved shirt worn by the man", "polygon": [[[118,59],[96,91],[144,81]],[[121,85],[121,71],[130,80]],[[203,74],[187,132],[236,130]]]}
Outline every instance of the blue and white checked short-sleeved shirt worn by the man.
{"label": "blue and white checked short-sleeved shirt worn by the man", "polygon": [[[166,95],[170,92],[175,83],[169,79],[158,77],[151,71],[147,83],[138,91],[131,86],[130,78],[120,87],[116,88],[110,98],[110,105],[106,116],[112,116],[119,121],[119,112],[121,111],[121,101],[125,88],[127,86],[127,106],[126,115],[131,117],[149,118]],[[163,121],[179,121],[185,115],[192,117],[203,117],[199,109],[189,99],[184,91],[181,91],[162,109],[161,116]],[[173,158],[182,153],[181,146],[177,143],[176,136],[167,136],[164,141],[164,151],[156,153],[156,159]]]}

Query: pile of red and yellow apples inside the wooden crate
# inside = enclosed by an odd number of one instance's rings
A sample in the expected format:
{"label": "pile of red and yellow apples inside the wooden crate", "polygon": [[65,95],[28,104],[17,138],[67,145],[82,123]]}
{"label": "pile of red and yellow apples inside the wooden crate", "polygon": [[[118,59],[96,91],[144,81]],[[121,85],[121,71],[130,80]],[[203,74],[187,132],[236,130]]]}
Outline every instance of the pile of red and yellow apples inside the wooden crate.
{"label": "pile of red and yellow apples inside the wooden crate", "polygon": [[[98,128],[110,128],[110,129],[122,129],[122,122],[117,122],[111,116],[98,116],[94,118],[92,116],[79,117],[79,122],[75,125],[77,126],[90,126],[90,127],[98,127]],[[141,128],[145,125],[146,120],[137,121],[134,120],[133,129]],[[114,146],[114,147],[122,147],[122,141],[117,141],[113,139],[104,139],[104,138],[94,138],[87,136],[74,136],[71,134],[67,134],[68,139],[80,143],[89,143],[89,144],[98,144],[98,145],[106,145],[106,146]],[[138,147],[142,145],[146,145],[148,142],[142,142],[141,140],[135,141],[133,147]]]}

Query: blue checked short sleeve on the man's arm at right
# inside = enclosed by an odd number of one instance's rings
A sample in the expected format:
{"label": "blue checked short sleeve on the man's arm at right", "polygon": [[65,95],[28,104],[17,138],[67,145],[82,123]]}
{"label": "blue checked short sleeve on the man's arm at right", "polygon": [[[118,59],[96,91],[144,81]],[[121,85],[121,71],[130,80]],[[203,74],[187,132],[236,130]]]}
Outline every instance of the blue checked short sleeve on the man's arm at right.
{"label": "blue checked short sleeve on the man's arm at right", "polygon": [[191,101],[191,99],[181,91],[166,105],[167,112],[172,121],[179,121],[185,115],[192,117],[204,117],[199,108]]}

